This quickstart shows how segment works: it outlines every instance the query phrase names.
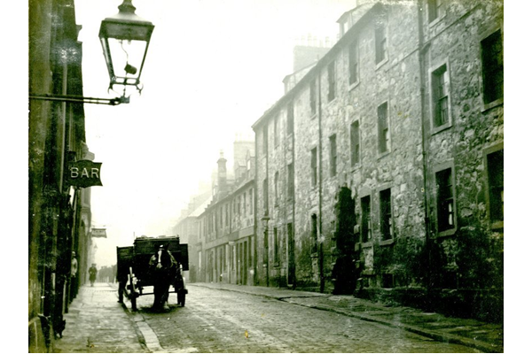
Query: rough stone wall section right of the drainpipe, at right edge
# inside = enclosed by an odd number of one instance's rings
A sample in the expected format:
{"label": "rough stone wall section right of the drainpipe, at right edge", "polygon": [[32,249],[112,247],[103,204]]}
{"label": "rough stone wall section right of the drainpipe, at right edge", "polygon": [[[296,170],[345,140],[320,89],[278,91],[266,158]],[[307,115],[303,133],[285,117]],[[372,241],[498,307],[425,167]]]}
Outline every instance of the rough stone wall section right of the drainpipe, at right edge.
{"label": "rough stone wall section right of the drainpipe, at right edge", "polygon": [[503,12],[429,1],[419,34],[429,295],[487,319],[503,309]]}

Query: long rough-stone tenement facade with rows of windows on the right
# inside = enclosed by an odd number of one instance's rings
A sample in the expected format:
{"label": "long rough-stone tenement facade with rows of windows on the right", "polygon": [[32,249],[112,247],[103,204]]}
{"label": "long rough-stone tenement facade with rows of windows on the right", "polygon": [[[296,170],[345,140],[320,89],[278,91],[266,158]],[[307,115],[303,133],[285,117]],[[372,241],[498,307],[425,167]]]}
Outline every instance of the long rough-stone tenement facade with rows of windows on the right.
{"label": "long rough-stone tenement facade with rows of windows on the right", "polygon": [[501,319],[502,2],[349,19],[254,123],[257,283]]}

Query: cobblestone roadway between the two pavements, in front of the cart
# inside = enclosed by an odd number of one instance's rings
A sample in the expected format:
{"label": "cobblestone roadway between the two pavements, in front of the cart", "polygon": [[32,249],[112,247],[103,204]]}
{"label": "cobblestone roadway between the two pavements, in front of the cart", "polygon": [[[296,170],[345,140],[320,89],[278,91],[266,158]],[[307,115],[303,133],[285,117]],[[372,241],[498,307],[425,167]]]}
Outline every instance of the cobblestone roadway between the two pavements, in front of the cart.
{"label": "cobblestone roadway between the two pavements, in front of the cart", "polygon": [[[165,352],[480,352],[393,328],[262,296],[193,284],[186,306],[170,294],[153,312],[140,296],[135,318],[153,330]],[[141,323],[144,322],[144,323]]]}

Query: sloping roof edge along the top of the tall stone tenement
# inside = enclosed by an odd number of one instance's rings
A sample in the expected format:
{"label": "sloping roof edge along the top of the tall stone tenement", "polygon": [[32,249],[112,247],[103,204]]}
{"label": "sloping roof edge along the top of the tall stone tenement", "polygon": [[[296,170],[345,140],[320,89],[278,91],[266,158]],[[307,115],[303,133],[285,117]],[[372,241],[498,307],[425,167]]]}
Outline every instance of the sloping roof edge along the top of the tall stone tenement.
{"label": "sloping roof edge along the top of the tall stone tenement", "polygon": [[358,19],[358,21],[356,21],[356,23],[352,27],[348,29],[348,32],[346,32],[345,35],[342,35],[340,37],[338,42],[336,42],[332,46],[331,50],[327,51],[327,53],[325,53],[325,56],[317,61],[316,65],[309,70],[309,73],[303,76],[301,80],[298,81],[292,89],[286,92],[284,96],[279,98],[278,101],[270,107],[270,109],[268,109],[266,112],[262,114],[261,118],[257,119],[254,122],[254,124],[251,126],[252,129],[255,130],[256,128],[261,127],[264,120],[268,119],[274,113],[277,113],[281,109],[281,107],[284,106],[284,104],[286,104],[286,102],[293,99],[293,96],[299,93],[299,90],[301,89],[301,87],[305,86],[310,80],[310,78],[316,77],[317,76],[316,72],[319,73],[319,71],[323,67],[325,67],[325,65],[329,64],[329,61],[331,60],[331,58],[335,56],[338,51],[343,49],[344,45],[347,44],[347,42],[351,41],[352,39],[351,36],[356,33],[356,30],[359,27],[362,27],[366,23],[366,21],[370,18],[370,14],[372,14],[373,12],[378,12],[382,8],[383,8],[383,4],[381,4],[380,2],[373,4],[372,7],[368,9],[368,11],[365,12],[364,15],[360,19]]}

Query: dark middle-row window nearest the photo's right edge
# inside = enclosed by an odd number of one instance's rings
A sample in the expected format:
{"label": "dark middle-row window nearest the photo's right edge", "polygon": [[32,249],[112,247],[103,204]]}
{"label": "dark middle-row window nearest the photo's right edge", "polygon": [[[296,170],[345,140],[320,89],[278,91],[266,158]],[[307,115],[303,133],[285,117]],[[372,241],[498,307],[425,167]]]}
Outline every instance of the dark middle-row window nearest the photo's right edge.
{"label": "dark middle-row window nearest the photo's right edge", "polygon": [[505,68],[503,64],[503,41],[501,31],[481,42],[482,74],[484,76],[484,104],[489,104],[505,95]]}

